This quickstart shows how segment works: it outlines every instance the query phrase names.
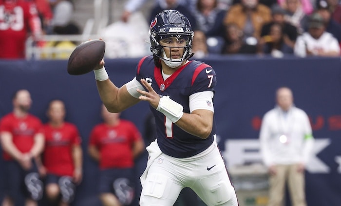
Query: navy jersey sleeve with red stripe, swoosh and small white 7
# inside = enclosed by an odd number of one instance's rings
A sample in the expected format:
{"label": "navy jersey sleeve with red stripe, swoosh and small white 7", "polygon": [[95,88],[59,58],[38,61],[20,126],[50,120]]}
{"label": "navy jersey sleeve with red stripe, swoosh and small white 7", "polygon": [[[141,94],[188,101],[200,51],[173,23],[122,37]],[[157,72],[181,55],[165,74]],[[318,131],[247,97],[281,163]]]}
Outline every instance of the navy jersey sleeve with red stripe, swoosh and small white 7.
{"label": "navy jersey sleeve with red stripe, swoosh and small white 7", "polygon": [[192,76],[191,94],[204,91],[214,91],[217,84],[215,72],[213,68],[207,64],[198,66]]}

